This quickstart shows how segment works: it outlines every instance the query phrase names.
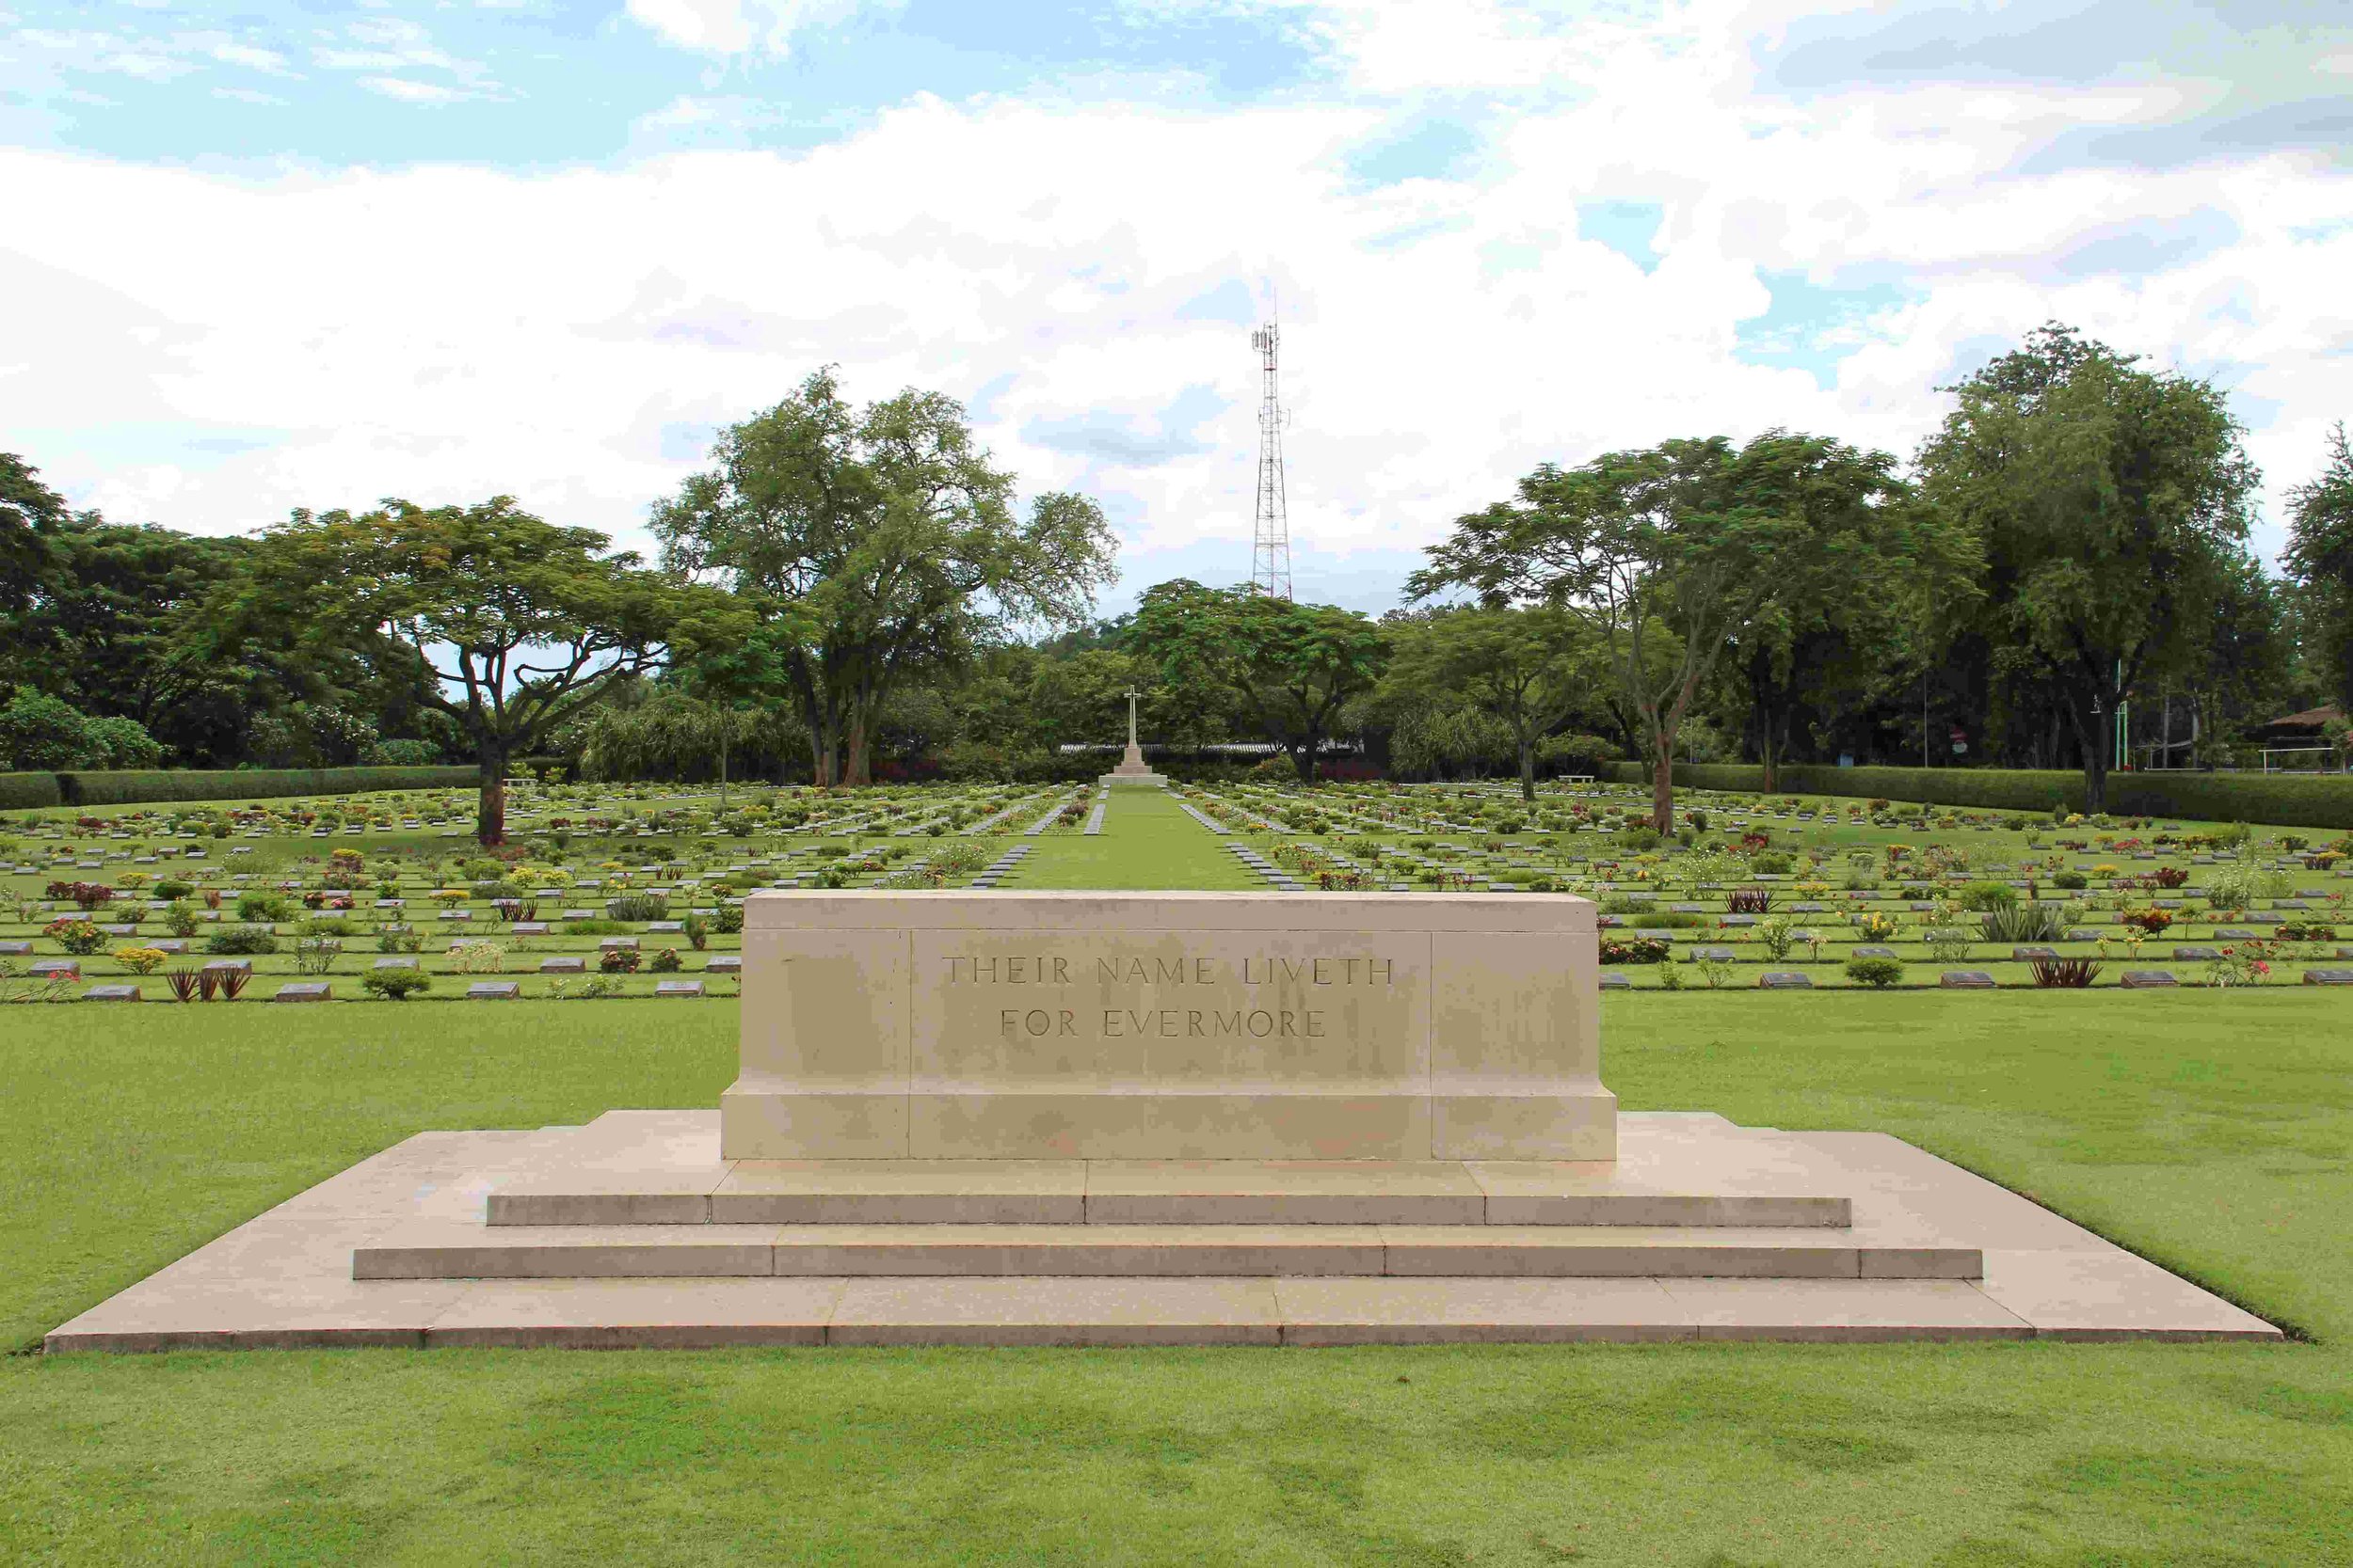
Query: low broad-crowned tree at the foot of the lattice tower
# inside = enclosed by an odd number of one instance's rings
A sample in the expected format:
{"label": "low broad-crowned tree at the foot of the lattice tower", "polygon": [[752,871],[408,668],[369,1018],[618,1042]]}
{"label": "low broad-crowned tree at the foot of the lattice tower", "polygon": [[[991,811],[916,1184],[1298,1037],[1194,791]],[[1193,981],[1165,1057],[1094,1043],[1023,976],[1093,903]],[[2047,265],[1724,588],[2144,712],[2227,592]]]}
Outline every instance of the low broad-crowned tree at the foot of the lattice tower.
{"label": "low broad-crowned tree at the foot of the lattice tower", "polygon": [[1188,578],[1144,595],[1129,644],[1172,686],[1207,682],[1231,691],[1289,755],[1299,783],[1315,783],[1315,759],[1341,705],[1388,668],[1388,639],[1353,609]]}

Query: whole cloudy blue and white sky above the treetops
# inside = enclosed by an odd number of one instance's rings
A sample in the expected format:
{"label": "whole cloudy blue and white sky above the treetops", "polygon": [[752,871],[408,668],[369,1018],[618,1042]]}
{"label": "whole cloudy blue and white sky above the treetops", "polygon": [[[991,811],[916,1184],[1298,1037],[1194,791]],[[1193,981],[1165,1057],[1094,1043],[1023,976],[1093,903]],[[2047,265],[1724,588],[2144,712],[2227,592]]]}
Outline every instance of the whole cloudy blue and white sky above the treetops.
{"label": "whole cloudy blue and white sky above the treetops", "polygon": [[2045,320],[2353,418],[2346,0],[0,0],[0,449],[115,522],[513,494],[647,545],[838,364],[1122,581],[1301,599],[1544,461],[1908,456]]}

